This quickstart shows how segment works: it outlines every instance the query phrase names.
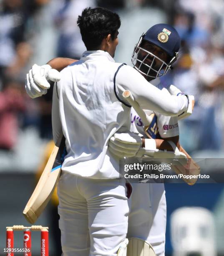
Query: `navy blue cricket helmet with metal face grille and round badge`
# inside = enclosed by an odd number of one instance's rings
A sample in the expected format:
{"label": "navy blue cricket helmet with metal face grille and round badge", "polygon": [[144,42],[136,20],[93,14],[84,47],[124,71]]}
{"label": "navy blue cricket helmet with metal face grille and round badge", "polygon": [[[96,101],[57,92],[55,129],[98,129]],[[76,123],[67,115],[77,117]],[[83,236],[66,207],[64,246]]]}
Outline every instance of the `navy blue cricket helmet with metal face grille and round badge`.
{"label": "navy blue cricket helmet with metal face grille and round badge", "polygon": [[[144,41],[160,47],[170,58],[164,61],[154,52],[147,51],[143,48]],[[164,76],[176,61],[180,46],[181,38],[174,27],[164,23],[156,24],[140,37],[131,56],[132,64],[145,77]]]}

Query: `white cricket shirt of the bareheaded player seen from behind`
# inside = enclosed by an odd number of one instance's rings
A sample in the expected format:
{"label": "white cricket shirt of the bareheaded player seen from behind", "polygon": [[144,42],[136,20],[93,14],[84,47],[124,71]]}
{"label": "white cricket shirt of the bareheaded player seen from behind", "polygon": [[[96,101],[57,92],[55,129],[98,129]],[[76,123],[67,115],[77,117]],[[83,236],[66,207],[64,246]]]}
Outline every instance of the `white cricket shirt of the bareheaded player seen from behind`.
{"label": "white cricket shirt of the bareheaded player seen from behind", "polygon": [[167,96],[132,67],[117,72],[120,65],[105,51],[86,51],[61,71],[53,91],[52,125],[54,141],[61,128],[65,136],[63,171],[92,179],[119,177],[119,159],[108,151],[108,140],[120,128],[130,131],[130,108],[119,101],[124,90],[142,108],[165,115],[186,110],[185,96]]}

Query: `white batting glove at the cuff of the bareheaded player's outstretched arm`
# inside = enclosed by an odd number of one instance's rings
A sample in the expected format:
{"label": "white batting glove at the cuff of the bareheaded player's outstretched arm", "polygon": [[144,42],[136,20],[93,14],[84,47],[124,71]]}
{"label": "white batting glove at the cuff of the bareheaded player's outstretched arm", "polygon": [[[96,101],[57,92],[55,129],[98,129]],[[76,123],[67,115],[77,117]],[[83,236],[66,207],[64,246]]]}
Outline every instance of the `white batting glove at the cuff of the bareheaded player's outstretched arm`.
{"label": "white batting glove at the cuff of the bareheaded player's outstretched arm", "polygon": [[[175,96],[178,96],[178,95],[183,95],[184,93],[181,92],[180,89],[178,89],[176,86],[174,86],[173,84],[171,84],[167,90],[169,91],[169,93],[171,95],[175,95]],[[184,94],[186,95],[186,94]],[[185,110],[183,113],[181,113],[179,116],[178,116],[178,120],[181,120],[181,119],[184,119],[184,118],[187,118],[189,117],[189,115],[191,115],[193,113],[193,110],[194,110],[194,96],[193,95],[186,95],[187,98],[188,98],[188,108],[187,110]]]}

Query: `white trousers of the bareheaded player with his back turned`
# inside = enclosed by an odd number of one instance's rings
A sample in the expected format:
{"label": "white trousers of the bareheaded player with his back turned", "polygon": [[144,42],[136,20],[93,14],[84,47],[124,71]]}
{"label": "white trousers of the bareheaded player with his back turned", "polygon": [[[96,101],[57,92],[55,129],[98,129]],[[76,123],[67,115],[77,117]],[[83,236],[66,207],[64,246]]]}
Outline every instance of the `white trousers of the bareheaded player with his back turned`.
{"label": "white trousers of the bareheaded player with his back turned", "polygon": [[58,197],[63,256],[116,256],[128,230],[125,179],[62,172]]}

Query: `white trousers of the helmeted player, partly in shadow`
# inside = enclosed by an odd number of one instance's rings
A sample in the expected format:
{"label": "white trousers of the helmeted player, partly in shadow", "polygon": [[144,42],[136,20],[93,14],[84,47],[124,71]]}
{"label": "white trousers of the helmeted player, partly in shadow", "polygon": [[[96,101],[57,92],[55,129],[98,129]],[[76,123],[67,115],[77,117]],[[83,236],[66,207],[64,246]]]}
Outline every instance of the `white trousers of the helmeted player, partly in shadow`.
{"label": "white trousers of the helmeted player, partly in shadow", "polygon": [[141,238],[165,256],[166,197],[162,183],[132,184],[127,238]]}

